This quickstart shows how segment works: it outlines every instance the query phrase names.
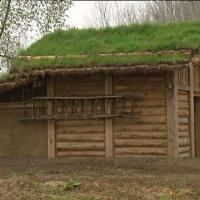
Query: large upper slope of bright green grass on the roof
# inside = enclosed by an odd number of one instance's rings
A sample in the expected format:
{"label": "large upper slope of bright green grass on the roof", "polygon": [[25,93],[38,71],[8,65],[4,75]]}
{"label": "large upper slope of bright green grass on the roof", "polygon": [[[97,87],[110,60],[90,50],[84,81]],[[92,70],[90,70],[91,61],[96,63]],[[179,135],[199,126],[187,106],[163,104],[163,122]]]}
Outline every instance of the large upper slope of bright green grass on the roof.
{"label": "large upper slope of bright green grass on the roof", "polygon": [[135,24],[101,29],[57,30],[27,49],[24,56],[97,54],[200,47],[200,22]]}

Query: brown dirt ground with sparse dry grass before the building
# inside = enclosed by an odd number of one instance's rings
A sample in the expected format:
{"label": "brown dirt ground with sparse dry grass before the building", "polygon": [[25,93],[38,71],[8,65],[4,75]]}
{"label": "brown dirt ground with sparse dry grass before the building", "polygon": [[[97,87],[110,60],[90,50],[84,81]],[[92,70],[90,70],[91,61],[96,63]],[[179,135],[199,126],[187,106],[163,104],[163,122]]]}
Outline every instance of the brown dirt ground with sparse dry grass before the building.
{"label": "brown dirt ground with sparse dry grass before the building", "polygon": [[2,200],[200,199],[198,159],[1,159],[0,175]]}

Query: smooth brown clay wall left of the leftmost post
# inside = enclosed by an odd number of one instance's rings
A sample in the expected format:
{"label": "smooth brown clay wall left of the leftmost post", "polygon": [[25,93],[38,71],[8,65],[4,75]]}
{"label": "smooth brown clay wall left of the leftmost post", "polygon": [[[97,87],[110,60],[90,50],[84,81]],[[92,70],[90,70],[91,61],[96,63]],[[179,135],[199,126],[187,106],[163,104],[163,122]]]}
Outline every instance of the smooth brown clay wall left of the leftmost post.
{"label": "smooth brown clay wall left of the leftmost post", "polygon": [[23,105],[0,103],[0,156],[47,157],[46,122],[21,122]]}

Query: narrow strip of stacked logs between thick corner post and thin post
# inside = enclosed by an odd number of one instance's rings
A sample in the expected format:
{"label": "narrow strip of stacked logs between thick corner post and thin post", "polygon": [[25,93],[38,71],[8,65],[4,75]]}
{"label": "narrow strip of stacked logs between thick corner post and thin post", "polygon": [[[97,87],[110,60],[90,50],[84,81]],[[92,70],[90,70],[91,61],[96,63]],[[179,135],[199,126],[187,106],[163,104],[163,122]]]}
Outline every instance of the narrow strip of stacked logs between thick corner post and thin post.
{"label": "narrow strip of stacked logs between thick corner post and thin post", "polygon": [[178,148],[179,157],[188,158],[191,152],[189,92],[178,91]]}

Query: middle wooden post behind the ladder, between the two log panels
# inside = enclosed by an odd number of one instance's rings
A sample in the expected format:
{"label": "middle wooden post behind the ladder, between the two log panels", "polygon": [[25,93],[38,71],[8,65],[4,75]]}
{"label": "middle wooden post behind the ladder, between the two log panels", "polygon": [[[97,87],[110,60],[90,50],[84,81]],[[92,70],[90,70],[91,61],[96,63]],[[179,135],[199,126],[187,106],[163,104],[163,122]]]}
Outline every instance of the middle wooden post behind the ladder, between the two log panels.
{"label": "middle wooden post behind the ladder, between the two log panels", "polygon": [[[105,95],[112,95],[112,75],[105,76]],[[112,114],[112,101],[105,101],[105,114]],[[113,149],[113,120],[106,118],[105,120],[105,138],[106,138],[106,157],[110,158],[114,156]]]}

